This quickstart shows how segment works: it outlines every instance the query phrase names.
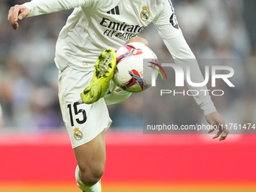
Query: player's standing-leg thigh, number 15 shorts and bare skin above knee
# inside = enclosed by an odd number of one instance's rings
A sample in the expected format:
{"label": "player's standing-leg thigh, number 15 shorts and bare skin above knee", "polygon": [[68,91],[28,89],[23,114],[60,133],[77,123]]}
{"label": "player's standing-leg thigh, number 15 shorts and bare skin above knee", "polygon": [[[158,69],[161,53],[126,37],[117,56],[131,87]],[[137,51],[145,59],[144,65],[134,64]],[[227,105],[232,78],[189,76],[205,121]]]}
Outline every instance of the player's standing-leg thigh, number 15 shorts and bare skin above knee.
{"label": "player's standing-leg thigh, number 15 shorts and bare skin above knee", "polygon": [[[67,68],[59,74],[59,102],[80,169],[105,163],[105,130],[111,124],[104,99],[87,105],[80,93],[89,84],[91,72]],[[83,171],[83,170],[82,170]]]}

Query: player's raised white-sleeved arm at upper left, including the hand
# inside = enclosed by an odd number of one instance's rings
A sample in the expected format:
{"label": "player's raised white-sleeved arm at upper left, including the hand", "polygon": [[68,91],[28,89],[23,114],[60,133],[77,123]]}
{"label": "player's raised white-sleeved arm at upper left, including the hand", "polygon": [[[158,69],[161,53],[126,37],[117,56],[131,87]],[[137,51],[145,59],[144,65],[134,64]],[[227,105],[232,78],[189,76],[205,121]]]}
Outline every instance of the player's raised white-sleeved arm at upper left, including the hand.
{"label": "player's raised white-sleeved arm at upper left, including the hand", "polygon": [[64,9],[77,8],[79,6],[88,7],[92,5],[93,0],[36,0],[26,2],[23,5],[11,7],[8,14],[8,21],[15,30],[19,28],[18,20],[24,17],[32,17],[41,14],[50,14]]}

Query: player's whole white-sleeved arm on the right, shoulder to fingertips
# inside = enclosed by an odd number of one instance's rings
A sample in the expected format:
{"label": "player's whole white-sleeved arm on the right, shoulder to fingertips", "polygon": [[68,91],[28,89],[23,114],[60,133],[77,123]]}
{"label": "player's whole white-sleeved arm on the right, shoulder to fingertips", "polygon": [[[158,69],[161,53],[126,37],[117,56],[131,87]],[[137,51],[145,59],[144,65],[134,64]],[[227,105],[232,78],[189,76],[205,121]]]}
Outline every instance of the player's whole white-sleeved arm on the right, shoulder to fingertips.
{"label": "player's whole white-sleeved arm on the right, shoulder to fingertips", "polygon": [[[163,4],[163,10],[160,11],[160,14],[154,19],[154,25],[156,26],[160,36],[163,38],[163,42],[168,48],[169,52],[172,54],[173,59],[175,59],[175,63],[181,66],[184,72],[187,71],[187,66],[190,67],[191,80],[194,83],[200,83],[204,81],[202,72],[197,63],[197,59],[194,56],[194,53],[188,46],[187,42],[182,35],[181,29],[178,26],[178,21],[175,17],[174,8],[172,7],[172,2],[170,0],[166,0]],[[185,80],[187,83],[187,80]],[[209,92],[201,92],[200,90],[208,90],[206,86],[204,87],[193,87],[190,84],[187,84],[190,90],[198,90],[200,93],[197,96],[194,96],[197,104],[203,110],[203,113],[206,116],[206,120],[208,123],[213,126],[217,126],[219,128],[219,132],[217,135],[213,137],[213,139],[221,136],[221,140],[226,139],[228,135],[228,130],[224,126],[224,120],[221,115],[218,114],[215,105],[212,102],[211,97],[209,96]],[[223,126],[219,126],[223,125]],[[220,128],[221,127],[221,128]],[[214,131],[211,130],[209,133]],[[223,133],[221,135],[221,133]]]}

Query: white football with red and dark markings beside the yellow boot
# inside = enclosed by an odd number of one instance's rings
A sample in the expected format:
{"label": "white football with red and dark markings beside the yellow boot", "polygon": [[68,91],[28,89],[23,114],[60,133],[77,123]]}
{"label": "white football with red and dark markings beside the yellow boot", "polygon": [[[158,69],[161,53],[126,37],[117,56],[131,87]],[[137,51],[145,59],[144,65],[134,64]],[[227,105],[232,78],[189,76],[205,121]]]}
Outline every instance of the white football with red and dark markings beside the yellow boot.
{"label": "white football with red and dark markings beside the yellow boot", "polygon": [[122,90],[141,92],[151,87],[152,72],[158,69],[156,54],[145,44],[133,42],[116,51],[113,81]]}

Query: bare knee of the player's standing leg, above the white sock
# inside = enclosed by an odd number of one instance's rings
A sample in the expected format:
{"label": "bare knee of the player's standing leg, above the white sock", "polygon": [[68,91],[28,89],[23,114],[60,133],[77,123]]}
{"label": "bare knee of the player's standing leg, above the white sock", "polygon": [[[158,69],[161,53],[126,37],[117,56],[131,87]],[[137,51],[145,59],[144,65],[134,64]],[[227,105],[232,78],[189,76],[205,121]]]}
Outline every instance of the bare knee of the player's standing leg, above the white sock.
{"label": "bare knee of the player's standing leg, above the white sock", "polygon": [[92,186],[96,184],[101,178],[104,173],[104,167],[98,167],[97,169],[90,169],[81,171],[81,180],[87,186]]}

